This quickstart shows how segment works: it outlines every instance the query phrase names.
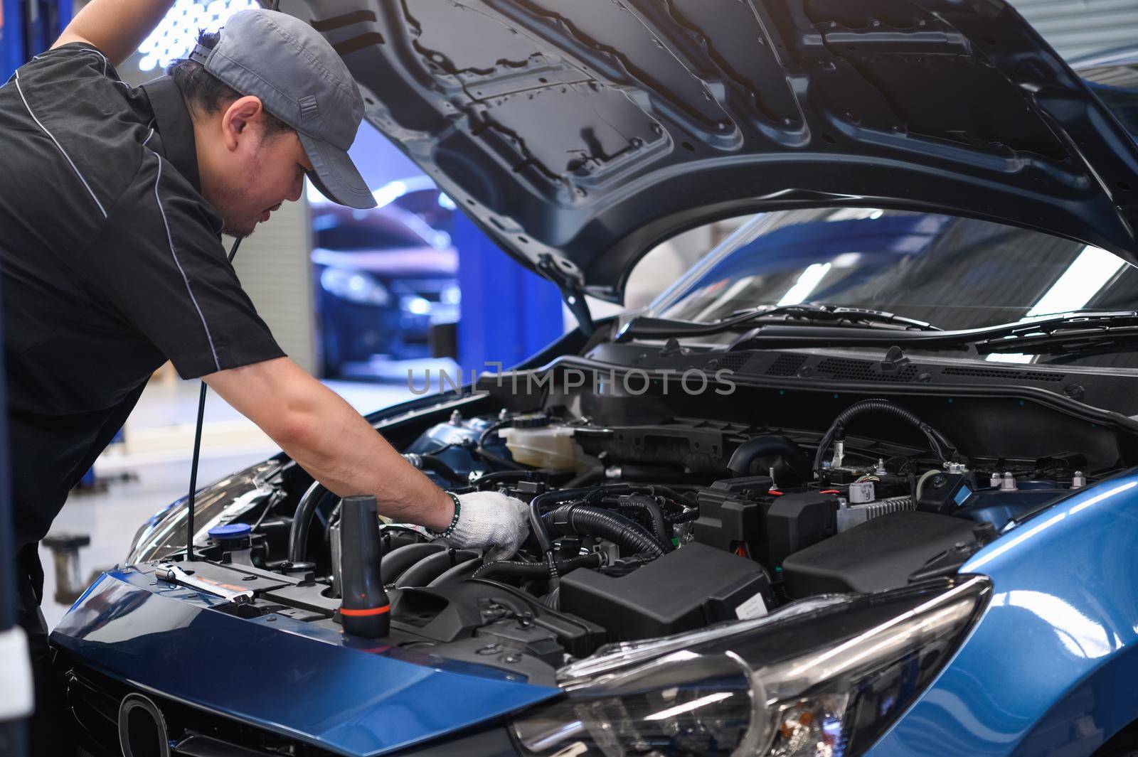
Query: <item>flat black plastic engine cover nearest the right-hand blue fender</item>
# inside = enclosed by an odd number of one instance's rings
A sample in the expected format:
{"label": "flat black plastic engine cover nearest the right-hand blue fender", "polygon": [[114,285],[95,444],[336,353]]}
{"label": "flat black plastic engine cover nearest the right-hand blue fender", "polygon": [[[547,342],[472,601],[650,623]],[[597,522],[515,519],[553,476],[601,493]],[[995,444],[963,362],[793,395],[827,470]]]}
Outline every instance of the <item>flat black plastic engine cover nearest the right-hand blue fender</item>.
{"label": "flat black plastic engine cover nearest the right-hand blue fender", "polygon": [[882,591],[908,583],[930,559],[975,542],[975,523],[935,513],[902,511],[866,521],[783,560],[786,594]]}

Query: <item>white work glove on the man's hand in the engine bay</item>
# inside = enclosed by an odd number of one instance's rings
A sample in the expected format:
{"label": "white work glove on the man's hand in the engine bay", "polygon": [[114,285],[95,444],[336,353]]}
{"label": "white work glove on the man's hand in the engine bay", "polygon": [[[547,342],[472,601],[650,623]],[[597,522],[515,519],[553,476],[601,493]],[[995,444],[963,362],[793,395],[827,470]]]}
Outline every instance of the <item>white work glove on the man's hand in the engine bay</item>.
{"label": "white work glove on the man's hand in the engine bay", "polygon": [[486,563],[504,560],[529,534],[529,506],[497,491],[459,494],[459,519],[443,536],[452,547],[485,549]]}

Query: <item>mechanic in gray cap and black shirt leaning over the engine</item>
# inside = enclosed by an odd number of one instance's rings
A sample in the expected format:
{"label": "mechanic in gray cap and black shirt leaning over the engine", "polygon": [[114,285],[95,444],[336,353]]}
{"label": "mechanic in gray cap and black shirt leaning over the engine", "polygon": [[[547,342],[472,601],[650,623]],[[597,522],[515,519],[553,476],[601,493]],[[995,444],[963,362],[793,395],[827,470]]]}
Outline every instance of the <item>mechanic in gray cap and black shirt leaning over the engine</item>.
{"label": "mechanic in gray cap and black shirt leaning over the engine", "polygon": [[307,24],[248,10],[203,34],[167,76],[125,84],[115,65],[172,5],[92,0],[0,88],[16,536],[5,558],[36,679],[35,755],[66,754],[38,542],[165,360],[339,496],[374,494],[382,515],[487,559],[527,533],[519,500],[443,491],[290,360],[226,259],[221,234],[251,234],[300,197],[305,176],[336,202],[376,205],[347,155],[363,116],[347,67]]}

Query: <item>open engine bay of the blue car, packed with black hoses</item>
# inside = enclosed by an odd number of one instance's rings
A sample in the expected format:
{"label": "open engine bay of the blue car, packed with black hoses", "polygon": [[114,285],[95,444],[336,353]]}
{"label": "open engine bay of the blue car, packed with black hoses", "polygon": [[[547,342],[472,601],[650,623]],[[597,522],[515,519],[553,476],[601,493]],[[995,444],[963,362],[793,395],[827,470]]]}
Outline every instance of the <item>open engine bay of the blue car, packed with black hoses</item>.
{"label": "open engine bay of the blue car, packed with black hoses", "polygon": [[[502,376],[479,389],[385,435],[445,489],[527,502],[530,536],[484,564],[419,526],[381,522],[385,641],[533,683],[553,684],[558,668],[612,642],[951,576],[1133,455],[1130,434],[998,392],[963,401],[932,388],[890,397],[740,383],[693,396],[553,382],[535,400]],[[768,423],[750,421],[760,409]],[[1040,423],[1052,424],[1046,439],[1032,433]],[[1050,449],[1059,443],[1074,449]],[[291,464],[274,490],[234,518],[250,524],[244,539],[199,548],[286,582],[224,612],[338,632],[340,500]]]}

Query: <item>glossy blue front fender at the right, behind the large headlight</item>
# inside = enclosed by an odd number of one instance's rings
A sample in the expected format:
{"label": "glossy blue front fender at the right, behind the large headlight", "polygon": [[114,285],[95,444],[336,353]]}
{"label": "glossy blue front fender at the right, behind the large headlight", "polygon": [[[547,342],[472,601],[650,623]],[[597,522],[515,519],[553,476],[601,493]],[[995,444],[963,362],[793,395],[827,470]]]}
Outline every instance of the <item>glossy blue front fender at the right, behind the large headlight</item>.
{"label": "glossy blue front fender at the right, behind the large headlight", "polygon": [[[974,555],[984,616],[866,754],[1090,754],[1138,719],[1138,473],[1062,500]],[[1074,747],[1072,751],[1072,746]]]}

